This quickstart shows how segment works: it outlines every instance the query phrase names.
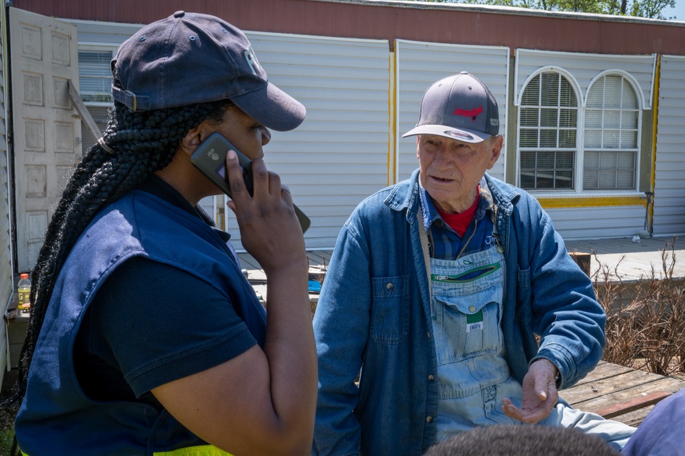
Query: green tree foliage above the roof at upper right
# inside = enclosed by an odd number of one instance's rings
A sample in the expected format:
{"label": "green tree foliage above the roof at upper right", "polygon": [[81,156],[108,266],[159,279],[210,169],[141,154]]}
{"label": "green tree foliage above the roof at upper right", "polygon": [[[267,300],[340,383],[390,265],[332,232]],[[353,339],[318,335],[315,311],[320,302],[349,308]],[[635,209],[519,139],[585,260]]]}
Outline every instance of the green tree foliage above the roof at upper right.
{"label": "green tree foliage above the roof at upper right", "polygon": [[[411,1],[411,0],[410,0]],[[589,12],[613,16],[666,18],[664,8],[674,8],[675,0],[421,0],[433,3],[472,3],[477,5],[516,6],[531,10]]]}

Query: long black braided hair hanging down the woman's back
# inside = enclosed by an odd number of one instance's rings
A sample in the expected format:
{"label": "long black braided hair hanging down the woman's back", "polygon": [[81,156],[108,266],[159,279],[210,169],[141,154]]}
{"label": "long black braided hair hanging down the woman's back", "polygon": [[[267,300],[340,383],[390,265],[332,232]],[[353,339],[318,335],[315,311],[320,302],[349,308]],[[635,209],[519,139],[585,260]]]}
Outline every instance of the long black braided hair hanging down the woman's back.
{"label": "long black braided hair hanging down the woman's back", "polygon": [[[116,78],[115,84],[119,84]],[[29,365],[57,276],[93,217],[152,173],[169,165],[180,140],[189,130],[205,120],[219,125],[232,106],[232,101],[223,99],[134,112],[115,101],[103,138],[88,149],[75,168],[47,228],[45,243],[32,272],[31,316],[19,357],[16,391],[0,407],[24,396]]]}

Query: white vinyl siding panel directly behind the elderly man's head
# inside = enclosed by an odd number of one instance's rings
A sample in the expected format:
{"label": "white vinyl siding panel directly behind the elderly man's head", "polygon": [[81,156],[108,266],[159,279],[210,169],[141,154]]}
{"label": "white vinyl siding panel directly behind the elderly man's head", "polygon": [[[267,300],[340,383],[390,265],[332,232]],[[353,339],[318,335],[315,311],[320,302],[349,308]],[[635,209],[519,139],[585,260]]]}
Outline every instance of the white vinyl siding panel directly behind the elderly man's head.
{"label": "white vinyl siding panel directly behind the elderly man's head", "polygon": [[500,131],[505,138],[502,154],[491,176],[505,178],[507,150],[507,93],[509,87],[509,48],[496,46],[447,45],[396,40],[396,180],[404,180],[418,168],[416,136],[402,138],[418,121],[421,98],[433,82],[468,71],[481,80],[497,100]]}

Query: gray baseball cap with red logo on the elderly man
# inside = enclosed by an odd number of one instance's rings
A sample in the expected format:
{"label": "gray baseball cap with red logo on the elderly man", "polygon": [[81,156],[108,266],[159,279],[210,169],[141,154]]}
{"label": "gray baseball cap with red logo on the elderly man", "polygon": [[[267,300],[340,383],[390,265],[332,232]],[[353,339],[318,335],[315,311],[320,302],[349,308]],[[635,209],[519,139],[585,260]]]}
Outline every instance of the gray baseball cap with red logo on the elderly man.
{"label": "gray baseball cap with red logo on the elderly man", "polygon": [[499,132],[497,101],[477,77],[462,71],[433,83],[423,94],[419,121],[402,138],[435,134],[480,143]]}

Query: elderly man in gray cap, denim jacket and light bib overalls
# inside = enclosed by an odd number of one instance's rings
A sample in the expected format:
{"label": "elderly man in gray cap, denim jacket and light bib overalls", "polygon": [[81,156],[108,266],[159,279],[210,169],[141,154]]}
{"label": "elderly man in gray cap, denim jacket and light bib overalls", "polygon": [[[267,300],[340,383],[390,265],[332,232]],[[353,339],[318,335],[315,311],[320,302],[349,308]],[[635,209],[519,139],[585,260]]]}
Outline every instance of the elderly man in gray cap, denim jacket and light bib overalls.
{"label": "elderly man in gray cap, denim jacket and light bib overalls", "polygon": [[605,314],[540,204],[485,173],[498,132],[476,77],[435,82],[404,135],[419,169],[341,230],[314,319],[313,454],[419,456],[491,424],[575,427],[616,448],[634,432],[557,396],[601,359]]}

